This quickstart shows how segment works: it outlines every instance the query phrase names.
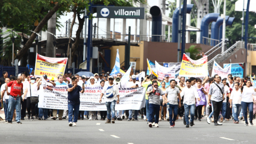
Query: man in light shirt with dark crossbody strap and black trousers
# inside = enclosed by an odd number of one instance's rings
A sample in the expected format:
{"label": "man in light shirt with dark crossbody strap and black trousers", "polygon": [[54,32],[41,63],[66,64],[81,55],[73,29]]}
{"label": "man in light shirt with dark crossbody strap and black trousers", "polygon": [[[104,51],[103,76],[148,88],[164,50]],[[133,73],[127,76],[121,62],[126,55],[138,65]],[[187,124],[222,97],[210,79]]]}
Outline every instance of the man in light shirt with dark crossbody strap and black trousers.
{"label": "man in light shirt with dark crossbody strap and black trousers", "polygon": [[210,104],[210,100],[212,100],[214,125],[222,125],[218,122],[218,119],[222,108],[222,102],[225,100],[225,90],[224,85],[220,83],[220,76],[216,74],[213,77],[215,82],[210,85],[207,103]]}

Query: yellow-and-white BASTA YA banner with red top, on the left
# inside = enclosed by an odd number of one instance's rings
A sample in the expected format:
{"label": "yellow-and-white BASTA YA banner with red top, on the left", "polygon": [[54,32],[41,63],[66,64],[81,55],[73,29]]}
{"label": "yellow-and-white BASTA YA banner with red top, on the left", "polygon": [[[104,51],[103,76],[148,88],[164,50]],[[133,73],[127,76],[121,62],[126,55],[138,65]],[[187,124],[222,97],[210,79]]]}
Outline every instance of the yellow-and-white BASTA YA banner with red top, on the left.
{"label": "yellow-and-white BASTA YA banner with red top, on the left", "polygon": [[35,77],[47,75],[48,79],[64,75],[68,58],[49,58],[36,54]]}

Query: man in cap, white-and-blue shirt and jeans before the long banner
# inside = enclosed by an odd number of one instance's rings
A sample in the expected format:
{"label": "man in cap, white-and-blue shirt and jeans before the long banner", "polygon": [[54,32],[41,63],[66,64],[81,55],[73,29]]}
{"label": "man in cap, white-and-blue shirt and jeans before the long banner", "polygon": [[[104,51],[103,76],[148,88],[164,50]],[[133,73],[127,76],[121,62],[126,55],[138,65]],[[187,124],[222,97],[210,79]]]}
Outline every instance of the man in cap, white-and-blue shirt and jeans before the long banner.
{"label": "man in cap, white-and-blue shirt and jeans before the long banner", "polygon": [[114,82],[113,76],[109,76],[108,81],[109,83],[105,84],[105,86],[103,87],[103,90],[101,91],[99,102],[101,103],[101,98],[106,93],[106,107],[107,107],[108,120],[105,123],[114,124],[115,123],[115,105],[116,103],[117,104],[119,103],[119,89],[117,85],[113,83]]}

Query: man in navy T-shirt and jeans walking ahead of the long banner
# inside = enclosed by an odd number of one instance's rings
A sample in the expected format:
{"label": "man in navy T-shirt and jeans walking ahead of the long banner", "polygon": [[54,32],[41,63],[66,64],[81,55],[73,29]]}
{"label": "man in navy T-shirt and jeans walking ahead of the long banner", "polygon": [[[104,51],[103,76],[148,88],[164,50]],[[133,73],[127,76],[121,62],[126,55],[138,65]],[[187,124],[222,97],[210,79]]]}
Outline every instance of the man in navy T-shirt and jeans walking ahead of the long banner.
{"label": "man in navy T-shirt and jeans walking ahead of the long banner", "polygon": [[[68,122],[69,126],[76,126],[80,107],[80,92],[84,93],[84,86],[77,85],[78,79],[73,77],[71,84],[68,84]],[[74,121],[73,121],[74,109]]]}

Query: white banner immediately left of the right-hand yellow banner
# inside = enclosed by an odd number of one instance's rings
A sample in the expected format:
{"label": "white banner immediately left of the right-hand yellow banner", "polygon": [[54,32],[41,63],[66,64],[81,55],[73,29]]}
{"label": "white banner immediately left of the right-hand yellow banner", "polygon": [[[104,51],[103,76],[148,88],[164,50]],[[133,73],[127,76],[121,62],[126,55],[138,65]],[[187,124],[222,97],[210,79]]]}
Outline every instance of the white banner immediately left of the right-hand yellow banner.
{"label": "white banner immediately left of the right-hand yellow banner", "polygon": [[165,74],[169,75],[169,79],[175,78],[175,65],[172,67],[164,67],[159,65],[157,61],[156,62],[156,73],[158,75],[158,79],[164,79]]}

